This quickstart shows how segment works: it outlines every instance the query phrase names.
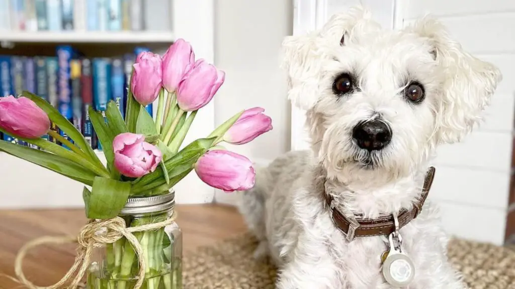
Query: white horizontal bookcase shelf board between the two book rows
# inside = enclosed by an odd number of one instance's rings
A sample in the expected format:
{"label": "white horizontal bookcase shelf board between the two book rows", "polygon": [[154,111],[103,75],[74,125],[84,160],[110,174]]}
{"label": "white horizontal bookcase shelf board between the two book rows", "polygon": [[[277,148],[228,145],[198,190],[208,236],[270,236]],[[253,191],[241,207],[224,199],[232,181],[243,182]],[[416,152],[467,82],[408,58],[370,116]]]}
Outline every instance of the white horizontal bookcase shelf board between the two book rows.
{"label": "white horizontal bookcase shelf board between the two book rows", "polygon": [[0,41],[12,43],[171,43],[170,31],[1,31]]}

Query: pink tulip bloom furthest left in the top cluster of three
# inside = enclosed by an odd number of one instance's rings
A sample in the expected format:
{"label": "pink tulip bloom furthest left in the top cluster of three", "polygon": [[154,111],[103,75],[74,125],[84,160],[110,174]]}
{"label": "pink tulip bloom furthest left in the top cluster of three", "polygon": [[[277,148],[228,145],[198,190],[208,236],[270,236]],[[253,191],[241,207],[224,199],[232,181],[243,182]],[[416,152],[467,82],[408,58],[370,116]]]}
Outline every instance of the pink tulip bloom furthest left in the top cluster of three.
{"label": "pink tulip bloom furthest left in the top cluster of three", "polygon": [[162,85],[163,65],[161,56],[144,51],[132,65],[134,73],[131,80],[131,91],[136,101],[147,105],[159,95]]}

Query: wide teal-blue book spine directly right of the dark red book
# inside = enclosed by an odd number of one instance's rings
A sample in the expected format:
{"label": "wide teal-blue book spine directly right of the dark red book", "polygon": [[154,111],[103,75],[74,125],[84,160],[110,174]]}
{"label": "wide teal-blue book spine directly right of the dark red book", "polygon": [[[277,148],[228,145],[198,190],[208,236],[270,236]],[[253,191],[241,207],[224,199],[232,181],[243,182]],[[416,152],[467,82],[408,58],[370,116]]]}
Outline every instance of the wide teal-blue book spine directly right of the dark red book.
{"label": "wide teal-blue book spine directly right of the dark red book", "polygon": [[[107,103],[111,100],[111,61],[108,58],[93,59],[93,103],[95,110],[106,117]],[[102,150],[100,140],[98,150]]]}

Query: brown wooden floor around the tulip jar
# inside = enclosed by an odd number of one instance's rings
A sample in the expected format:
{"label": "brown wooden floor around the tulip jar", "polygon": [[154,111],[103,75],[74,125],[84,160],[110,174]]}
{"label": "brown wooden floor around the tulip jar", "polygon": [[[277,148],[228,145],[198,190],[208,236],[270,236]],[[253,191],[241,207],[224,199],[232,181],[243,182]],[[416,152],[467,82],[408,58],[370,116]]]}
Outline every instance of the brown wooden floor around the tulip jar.
{"label": "brown wooden floor around the tulip jar", "polygon": [[[246,230],[233,207],[183,205],[177,211],[185,254]],[[14,276],[14,258],[23,244],[42,236],[76,236],[85,222],[83,210],[0,210],[0,289],[21,288],[2,275]],[[64,276],[74,257],[75,245],[42,246],[28,254],[24,272],[36,285],[48,286]]]}

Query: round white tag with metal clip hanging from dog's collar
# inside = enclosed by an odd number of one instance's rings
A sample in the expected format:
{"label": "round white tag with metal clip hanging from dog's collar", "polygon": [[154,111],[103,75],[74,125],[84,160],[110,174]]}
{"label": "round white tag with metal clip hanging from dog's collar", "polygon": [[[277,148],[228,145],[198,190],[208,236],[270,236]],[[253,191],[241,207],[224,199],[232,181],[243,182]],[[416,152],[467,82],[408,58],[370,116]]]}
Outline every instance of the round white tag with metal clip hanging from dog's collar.
{"label": "round white tag with metal clip hanging from dog's collar", "polygon": [[[397,216],[394,216],[397,219]],[[396,239],[397,245],[393,242]],[[402,237],[398,230],[388,236],[390,250],[388,255],[383,253],[383,276],[390,285],[394,287],[403,287],[409,285],[415,277],[415,264],[406,256],[401,249]]]}

